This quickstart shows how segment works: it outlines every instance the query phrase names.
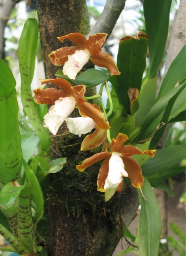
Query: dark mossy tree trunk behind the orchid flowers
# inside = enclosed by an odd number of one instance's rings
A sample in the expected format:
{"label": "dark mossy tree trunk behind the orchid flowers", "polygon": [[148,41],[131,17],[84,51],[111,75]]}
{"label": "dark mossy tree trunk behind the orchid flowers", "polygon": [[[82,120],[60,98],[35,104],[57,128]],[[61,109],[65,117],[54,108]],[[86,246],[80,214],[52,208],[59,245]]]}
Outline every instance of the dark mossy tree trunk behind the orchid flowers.
{"label": "dark mossy tree trunk behind the orchid flowers", "polygon": [[[89,32],[86,2],[37,0],[37,12],[46,78],[51,79],[58,67],[50,62],[48,54],[62,46],[70,46],[68,40],[62,44],[57,37],[73,32],[86,35]],[[93,67],[92,63],[88,63],[89,67]],[[76,115],[74,112],[73,116]],[[94,164],[83,173],[76,169],[76,165],[93,152],[80,152],[83,138],[67,133],[65,125],[61,126],[58,134],[62,136],[52,137],[51,158],[67,157],[67,164],[61,172],[50,175],[48,255],[112,256],[123,234],[120,203],[124,203],[124,199],[115,195],[106,203],[104,194],[97,191],[96,185],[100,164]],[[123,195],[131,204],[125,223],[127,226],[138,207],[137,200],[133,204],[137,191],[126,186]],[[122,211],[124,219],[126,209]]]}

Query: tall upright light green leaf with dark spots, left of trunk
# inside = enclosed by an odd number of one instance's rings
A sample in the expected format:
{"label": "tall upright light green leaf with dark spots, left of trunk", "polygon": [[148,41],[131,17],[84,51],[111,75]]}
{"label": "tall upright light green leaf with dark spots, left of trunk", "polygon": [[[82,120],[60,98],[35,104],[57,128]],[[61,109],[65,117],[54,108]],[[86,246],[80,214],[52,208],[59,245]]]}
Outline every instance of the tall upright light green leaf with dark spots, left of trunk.
{"label": "tall upright light green leaf with dark spots, left of trunk", "polygon": [[35,68],[35,53],[38,41],[38,23],[34,18],[26,20],[18,48],[19,69],[21,73],[21,101],[33,128],[46,149],[49,146],[47,130],[40,121],[31,92],[31,82]]}

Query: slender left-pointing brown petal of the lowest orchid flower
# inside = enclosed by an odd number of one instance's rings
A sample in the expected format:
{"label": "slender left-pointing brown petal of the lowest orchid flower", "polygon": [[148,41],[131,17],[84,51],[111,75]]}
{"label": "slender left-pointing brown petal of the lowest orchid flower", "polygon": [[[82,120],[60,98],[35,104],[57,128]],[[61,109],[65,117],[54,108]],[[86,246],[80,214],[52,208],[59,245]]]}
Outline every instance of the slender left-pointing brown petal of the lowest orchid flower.
{"label": "slender left-pointing brown petal of the lowest orchid flower", "polygon": [[80,172],[84,172],[84,170],[86,168],[88,168],[89,166],[93,165],[94,163],[97,163],[105,158],[110,158],[111,156],[111,152],[100,152],[100,153],[96,153],[93,156],[91,156],[90,158],[86,158],[84,160],[84,162],[82,164],[79,164],[76,166],[76,168],[80,171]]}

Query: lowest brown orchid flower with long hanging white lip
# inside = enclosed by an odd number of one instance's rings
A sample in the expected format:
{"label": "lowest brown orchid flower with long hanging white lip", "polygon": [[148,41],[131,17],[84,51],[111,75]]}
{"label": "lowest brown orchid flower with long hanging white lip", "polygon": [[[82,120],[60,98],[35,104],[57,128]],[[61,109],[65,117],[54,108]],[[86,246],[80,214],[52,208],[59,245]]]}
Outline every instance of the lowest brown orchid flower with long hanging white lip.
{"label": "lowest brown orchid flower with long hanging white lip", "polygon": [[82,164],[76,166],[80,172],[83,172],[94,163],[104,160],[97,178],[98,191],[105,192],[109,188],[116,188],[120,192],[123,186],[123,177],[129,177],[134,187],[142,187],[141,167],[131,156],[147,154],[150,157],[154,157],[156,150],[141,151],[131,145],[123,146],[127,140],[127,135],[119,133],[117,138],[113,138],[109,145],[110,152],[104,151],[94,154],[85,159]]}

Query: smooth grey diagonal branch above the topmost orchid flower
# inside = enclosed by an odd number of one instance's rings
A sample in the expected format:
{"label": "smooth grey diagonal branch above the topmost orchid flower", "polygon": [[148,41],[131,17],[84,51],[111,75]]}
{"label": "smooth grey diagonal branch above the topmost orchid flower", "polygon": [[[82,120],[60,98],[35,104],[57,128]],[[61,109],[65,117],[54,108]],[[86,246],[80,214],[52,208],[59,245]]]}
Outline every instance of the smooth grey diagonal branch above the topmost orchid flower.
{"label": "smooth grey diagonal branch above the topmost orchid flower", "polygon": [[120,13],[125,7],[125,2],[126,0],[107,0],[102,14],[88,33],[87,37],[100,32],[107,33],[108,38],[112,33]]}

